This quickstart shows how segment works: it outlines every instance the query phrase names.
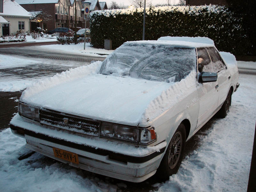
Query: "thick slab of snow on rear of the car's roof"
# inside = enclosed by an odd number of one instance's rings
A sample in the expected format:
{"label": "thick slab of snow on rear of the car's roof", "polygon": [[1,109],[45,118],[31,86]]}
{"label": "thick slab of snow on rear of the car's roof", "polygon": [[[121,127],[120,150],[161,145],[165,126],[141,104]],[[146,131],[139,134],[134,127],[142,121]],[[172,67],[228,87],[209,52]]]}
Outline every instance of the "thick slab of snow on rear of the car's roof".
{"label": "thick slab of snow on rear of the car's roof", "polygon": [[193,43],[204,43],[204,44],[212,44],[214,42],[212,39],[208,37],[172,37],[172,36],[165,36],[160,37],[157,41],[186,41],[186,42],[193,42]]}

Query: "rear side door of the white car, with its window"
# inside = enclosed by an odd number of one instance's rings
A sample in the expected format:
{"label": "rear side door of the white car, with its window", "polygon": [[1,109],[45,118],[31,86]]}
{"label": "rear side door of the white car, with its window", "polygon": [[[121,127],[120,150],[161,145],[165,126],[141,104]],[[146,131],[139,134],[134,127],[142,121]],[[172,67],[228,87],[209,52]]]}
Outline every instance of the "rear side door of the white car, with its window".
{"label": "rear side door of the white car, with its window", "polygon": [[219,101],[218,106],[222,105],[226,100],[229,91],[230,84],[230,73],[224,61],[221,59],[219,52],[214,47],[207,48],[212,63],[214,71],[218,73],[218,85],[219,85]]}

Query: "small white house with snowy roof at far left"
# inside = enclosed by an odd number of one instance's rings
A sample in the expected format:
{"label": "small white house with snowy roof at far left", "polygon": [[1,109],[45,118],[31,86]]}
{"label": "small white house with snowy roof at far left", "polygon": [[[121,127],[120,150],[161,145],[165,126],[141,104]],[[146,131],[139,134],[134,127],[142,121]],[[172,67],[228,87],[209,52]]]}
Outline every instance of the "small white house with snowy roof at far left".
{"label": "small white house with snowy roof at far left", "polygon": [[15,35],[19,30],[30,31],[29,19],[31,15],[14,0],[4,0],[3,12],[0,12],[0,16],[2,23],[0,36]]}

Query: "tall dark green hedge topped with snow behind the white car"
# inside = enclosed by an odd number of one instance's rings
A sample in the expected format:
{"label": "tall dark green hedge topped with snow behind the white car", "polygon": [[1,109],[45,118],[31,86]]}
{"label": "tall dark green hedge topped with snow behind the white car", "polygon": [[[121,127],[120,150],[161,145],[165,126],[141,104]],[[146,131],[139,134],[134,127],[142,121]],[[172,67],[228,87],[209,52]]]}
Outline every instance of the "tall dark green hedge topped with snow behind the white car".
{"label": "tall dark green hedge topped with snow behind the white car", "polygon": [[[90,14],[91,44],[103,47],[104,39],[112,47],[126,41],[142,40],[143,9],[94,11]],[[242,28],[243,18],[225,6],[164,6],[146,8],[145,39],[161,36],[205,36],[214,40],[220,51],[247,54],[252,46]]]}

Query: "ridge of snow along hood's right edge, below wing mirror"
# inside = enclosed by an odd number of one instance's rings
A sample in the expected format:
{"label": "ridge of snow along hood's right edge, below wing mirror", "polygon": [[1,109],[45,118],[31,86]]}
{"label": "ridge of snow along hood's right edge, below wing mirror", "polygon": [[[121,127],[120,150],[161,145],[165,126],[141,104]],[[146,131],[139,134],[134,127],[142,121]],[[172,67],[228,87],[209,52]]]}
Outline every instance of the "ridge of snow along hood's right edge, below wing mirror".
{"label": "ridge of snow along hood's right edge, below wing mirror", "polygon": [[172,108],[175,104],[188,97],[196,90],[196,71],[192,71],[185,79],[171,85],[152,100],[145,110],[141,122],[147,122],[155,119],[157,116]]}

